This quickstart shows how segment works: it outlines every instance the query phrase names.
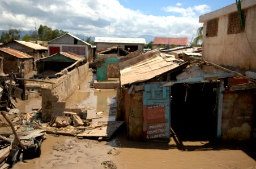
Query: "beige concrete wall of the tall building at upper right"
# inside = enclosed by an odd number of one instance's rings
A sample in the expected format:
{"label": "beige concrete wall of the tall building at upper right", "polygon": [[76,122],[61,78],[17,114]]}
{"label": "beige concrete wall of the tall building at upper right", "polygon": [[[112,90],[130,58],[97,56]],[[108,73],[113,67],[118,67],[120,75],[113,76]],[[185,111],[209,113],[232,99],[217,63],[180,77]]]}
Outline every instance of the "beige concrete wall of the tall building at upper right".
{"label": "beige concrete wall of the tall building at upper right", "polygon": [[[244,3],[249,1],[242,1]],[[251,1],[253,3],[253,1]],[[231,7],[223,11],[229,10]],[[237,12],[237,8],[234,5]],[[217,11],[215,11],[217,14]],[[212,12],[215,14],[215,12]],[[220,11],[219,11],[220,12]],[[211,15],[208,14],[208,15]],[[207,14],[206,14],[207,16]],[[202,58],[218,65],[232,66],[245,70],[256,70],[255,48],[256,48],[256,6],[250,7],[246,11],[245,31],[241,33],[228,34],[229,14],[219,17],[217,35],[207,37],[207,21],[203,20],[203,53]],[[200,21],[202,22],[202,21]],[[242,73],[242,72],[241,72]]]}

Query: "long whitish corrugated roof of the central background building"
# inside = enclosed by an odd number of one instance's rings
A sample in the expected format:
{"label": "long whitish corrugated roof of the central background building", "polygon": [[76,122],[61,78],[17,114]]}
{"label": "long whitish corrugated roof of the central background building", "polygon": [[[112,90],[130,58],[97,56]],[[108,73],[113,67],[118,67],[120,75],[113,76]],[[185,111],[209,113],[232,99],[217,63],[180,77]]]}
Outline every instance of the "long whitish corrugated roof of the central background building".
{"label": "long whitish corrugated roof of the central background building", "polygon": [[146,44],[144,38],[95,37],[95,43],[134,43]]}

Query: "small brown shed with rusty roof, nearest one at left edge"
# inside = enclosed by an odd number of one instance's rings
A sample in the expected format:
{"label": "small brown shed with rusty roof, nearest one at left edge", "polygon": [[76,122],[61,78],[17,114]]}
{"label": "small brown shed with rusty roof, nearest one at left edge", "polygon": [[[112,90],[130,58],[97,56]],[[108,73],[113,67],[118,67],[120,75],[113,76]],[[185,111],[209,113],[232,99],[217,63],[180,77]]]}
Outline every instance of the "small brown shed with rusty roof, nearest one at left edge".
{"label": "small brown shed with rusty roof, nearest one at left edge", "polygon": [[3,57],[3,73],[10,74],[23,72],[25,75],[34,70],[33,56],[14,50],[12,48],[0,47],[0,55]]}

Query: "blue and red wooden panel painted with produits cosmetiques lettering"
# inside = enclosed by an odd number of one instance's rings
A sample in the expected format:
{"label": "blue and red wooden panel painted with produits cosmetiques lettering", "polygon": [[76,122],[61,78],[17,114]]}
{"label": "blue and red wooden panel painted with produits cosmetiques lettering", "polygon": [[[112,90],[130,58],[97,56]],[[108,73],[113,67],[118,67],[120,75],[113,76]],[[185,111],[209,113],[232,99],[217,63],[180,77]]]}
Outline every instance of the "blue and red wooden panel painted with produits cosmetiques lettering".
{"label": "blue and red wooden panel painted with produits cosmetiques lettering", "polygon": [[143,92],[143,137],[146,140],[170,138],[170,88],[145,84]]}

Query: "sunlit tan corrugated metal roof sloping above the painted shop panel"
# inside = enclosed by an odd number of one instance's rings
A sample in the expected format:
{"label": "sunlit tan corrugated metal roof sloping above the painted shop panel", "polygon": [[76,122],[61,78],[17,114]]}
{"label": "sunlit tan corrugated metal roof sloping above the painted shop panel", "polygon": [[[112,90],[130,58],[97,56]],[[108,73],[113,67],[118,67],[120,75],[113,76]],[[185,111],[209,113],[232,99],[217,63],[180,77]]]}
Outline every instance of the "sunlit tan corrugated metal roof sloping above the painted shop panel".
{"label": "sunlit tan corrugated metal roof sloping above the painted shop panel", "polygon": [[155,51],[153,54],[156,55],[152,55],[150,59],[120,70],[121,85],[144,82],[179,66],[173,61],[165,60],[159,52]]}

